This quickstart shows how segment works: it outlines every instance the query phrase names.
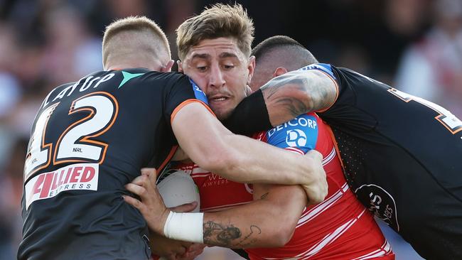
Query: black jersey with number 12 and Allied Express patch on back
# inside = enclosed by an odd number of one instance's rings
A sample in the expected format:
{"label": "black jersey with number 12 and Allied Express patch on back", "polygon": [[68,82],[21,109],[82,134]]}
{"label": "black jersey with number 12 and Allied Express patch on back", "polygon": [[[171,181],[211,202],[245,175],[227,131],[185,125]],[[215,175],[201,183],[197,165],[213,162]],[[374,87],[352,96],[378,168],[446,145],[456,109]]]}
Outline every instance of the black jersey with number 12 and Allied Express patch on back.
{"label": "black jersey with number 12 and Allied Express patch on back", "polygon": [[176,144],[171,120],[206,102],[188,77],[127,69],[57,87],[33,124],[24,168],[18,259],[148,259],[148,229],[124,202],[140,168]]}

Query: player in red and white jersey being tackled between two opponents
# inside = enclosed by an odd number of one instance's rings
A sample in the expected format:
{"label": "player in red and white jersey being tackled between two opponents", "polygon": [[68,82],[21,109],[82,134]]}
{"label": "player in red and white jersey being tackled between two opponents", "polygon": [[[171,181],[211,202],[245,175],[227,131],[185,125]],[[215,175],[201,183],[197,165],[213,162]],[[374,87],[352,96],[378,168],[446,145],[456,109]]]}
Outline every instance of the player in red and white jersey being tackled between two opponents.
{"label": "player in red and white jersey being tackled between two opponents", "polygon": [[[249,94],[255,64],[249,57],[252,21],[242,6],[219,4],[189,18],[177,32],[180,69],[207,94],[218,119],[226,119]],[[372,215],[348,187],[331,131],[316,114],[302,114],[254,138],[295,153],[321,152],[329,185],[326,200],[306,207],[300,186],[233,183],[186,163],[176,167],[198,185],[203,215],[181,213],[178,218],[170,212],[167,219],[159,218],[166,208],[146,178],[127,186],[141,201],[126,201],[159,234],[244,248],[250,259],[394,259]],[[189,217],[193,215],[194,220]],[[181,228],[186,234],[179,234]]]}

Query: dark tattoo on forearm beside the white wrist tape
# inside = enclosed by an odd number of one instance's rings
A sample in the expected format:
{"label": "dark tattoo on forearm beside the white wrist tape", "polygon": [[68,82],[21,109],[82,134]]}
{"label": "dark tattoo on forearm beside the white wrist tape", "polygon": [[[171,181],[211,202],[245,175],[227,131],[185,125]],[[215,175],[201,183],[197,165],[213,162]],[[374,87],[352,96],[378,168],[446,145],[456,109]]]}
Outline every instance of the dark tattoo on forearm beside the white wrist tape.
{"label": "dark tattoo on forearm beside the white wrist tape", "polygon": [[[220,224],[213,221],[208,221],[203,224],[204,244],[219,246],[219,247],[245,247],[257,241],[254,234],[261,234],[262,230],[255,226],[250,226],[250,233],[243,239],[242,232],[233,224]],[[240,240],[237,240],[240,239]]]}

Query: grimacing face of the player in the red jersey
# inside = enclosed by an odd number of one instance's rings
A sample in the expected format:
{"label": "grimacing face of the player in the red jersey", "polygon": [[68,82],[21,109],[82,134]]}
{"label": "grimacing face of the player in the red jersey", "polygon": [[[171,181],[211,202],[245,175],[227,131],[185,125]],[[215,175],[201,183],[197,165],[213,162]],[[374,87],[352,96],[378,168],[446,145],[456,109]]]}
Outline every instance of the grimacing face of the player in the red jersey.
{"label": "grimacing face of the player in the red jersey", "polygon": [[217,118],[226,119],[250,92],[254,58],[247,58],[234,38],[202,40],[190,48],[180,70],[207,95]]}

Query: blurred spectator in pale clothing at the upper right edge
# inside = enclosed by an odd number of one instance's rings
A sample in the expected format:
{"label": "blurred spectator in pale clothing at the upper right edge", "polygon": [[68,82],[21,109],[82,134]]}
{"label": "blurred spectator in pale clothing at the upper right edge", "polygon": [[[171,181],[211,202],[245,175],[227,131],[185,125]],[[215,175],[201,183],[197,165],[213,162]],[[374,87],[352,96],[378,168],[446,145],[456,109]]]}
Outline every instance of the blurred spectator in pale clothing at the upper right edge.
{"label": "blurred spectator in pale clothing at the upper right edge", "polygon": [[462,118],[462,1],[434,4],[434,26],[404,53],[396,85]]}

